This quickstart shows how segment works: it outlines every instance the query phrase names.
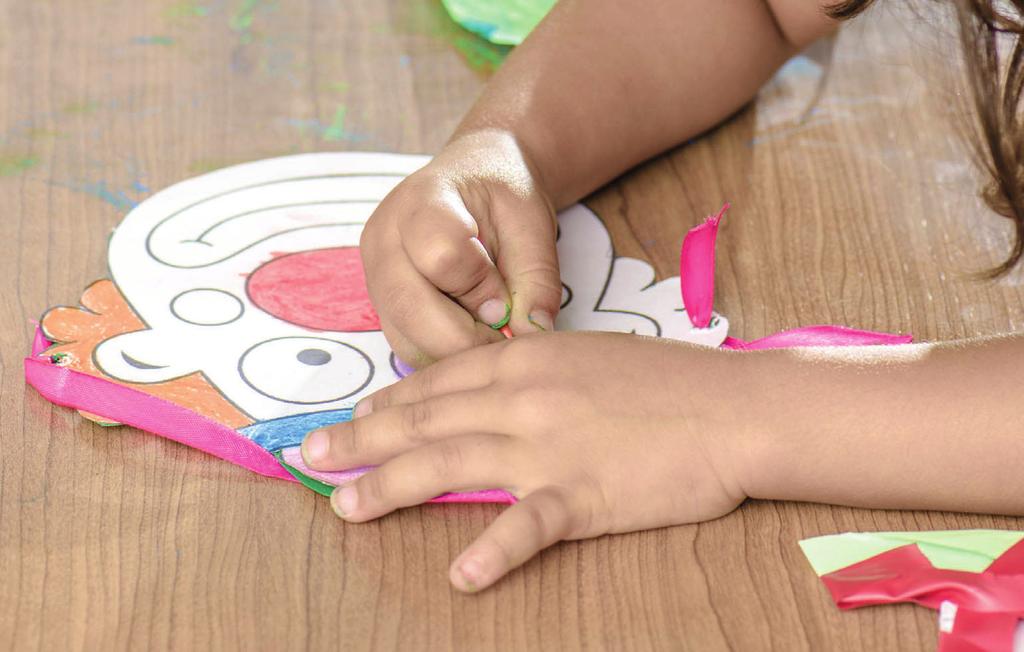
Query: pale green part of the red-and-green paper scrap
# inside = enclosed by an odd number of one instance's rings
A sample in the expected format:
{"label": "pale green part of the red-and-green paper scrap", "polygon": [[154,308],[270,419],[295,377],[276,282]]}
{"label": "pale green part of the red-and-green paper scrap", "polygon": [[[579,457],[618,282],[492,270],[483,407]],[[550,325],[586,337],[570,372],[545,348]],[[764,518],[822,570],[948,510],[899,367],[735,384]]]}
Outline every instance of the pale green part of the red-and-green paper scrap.
{"label": "pale green part of the red-and-green paper scrap", "polygon": [[805,538],[800,548],[819,577],[907,544],[936,568],[980,573],[1022,538],[1024,532],[1012,530],[847,532]]}

